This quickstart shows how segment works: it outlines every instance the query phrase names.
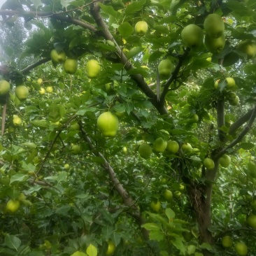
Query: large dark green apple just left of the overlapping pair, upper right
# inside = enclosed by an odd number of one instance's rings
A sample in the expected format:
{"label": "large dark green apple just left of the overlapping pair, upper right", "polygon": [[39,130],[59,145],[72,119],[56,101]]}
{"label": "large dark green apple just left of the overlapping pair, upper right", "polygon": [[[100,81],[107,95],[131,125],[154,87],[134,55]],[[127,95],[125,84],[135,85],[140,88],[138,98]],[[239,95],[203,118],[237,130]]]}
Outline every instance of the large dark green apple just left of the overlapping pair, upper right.
{"label": "large dark green apple just left of the overlapping pair, upper right", "polygon": [[196,24],[189,24],[181,31],[181,39],[187,47],[199,48],[204,40],[204,31]]}

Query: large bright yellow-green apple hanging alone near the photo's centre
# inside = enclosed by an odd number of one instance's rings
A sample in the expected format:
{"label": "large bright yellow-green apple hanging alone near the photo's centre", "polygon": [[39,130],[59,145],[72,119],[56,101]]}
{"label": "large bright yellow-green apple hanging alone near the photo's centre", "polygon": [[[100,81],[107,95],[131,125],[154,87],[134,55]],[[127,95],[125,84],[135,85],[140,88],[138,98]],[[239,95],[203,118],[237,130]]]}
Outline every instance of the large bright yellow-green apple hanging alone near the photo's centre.
{"label": "large bright yellow-green apple hanging alone near the photo's centre", "polygon": [[99,115],[97,120],[97,127],[105,137],[113,137],[118,132],[119,122],[118,118],[111,112],[104,112]]}

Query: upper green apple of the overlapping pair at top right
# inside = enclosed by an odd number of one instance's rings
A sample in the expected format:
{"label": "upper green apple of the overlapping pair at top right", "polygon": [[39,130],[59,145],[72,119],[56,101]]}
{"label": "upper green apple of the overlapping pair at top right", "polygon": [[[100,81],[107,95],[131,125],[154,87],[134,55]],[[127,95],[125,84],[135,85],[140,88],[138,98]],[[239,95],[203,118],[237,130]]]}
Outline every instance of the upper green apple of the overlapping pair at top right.
{"label": "upper green apple of the overlapping pair at top right", "polygon": [[222,17],[217,13],[209,14],[204,20],[204,29],[211,38],[219,38],[225,31]]}

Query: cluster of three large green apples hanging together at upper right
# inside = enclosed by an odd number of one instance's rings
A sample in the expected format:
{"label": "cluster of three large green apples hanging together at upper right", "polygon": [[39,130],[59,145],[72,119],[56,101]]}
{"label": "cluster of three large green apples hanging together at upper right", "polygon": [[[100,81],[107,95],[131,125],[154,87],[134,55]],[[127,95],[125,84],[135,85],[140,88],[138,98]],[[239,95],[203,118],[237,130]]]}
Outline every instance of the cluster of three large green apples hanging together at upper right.
{"label": "cluster of three large green apples hanging together at upper right", "polygon": [[204,20],[204,31],[196,24],[189,24],[181,31],[181,38],[185,46],[192,49],[199,48],[203,41],[209,52],[218,54],[225,46],[225,24],[217,13],[209,14]]}

